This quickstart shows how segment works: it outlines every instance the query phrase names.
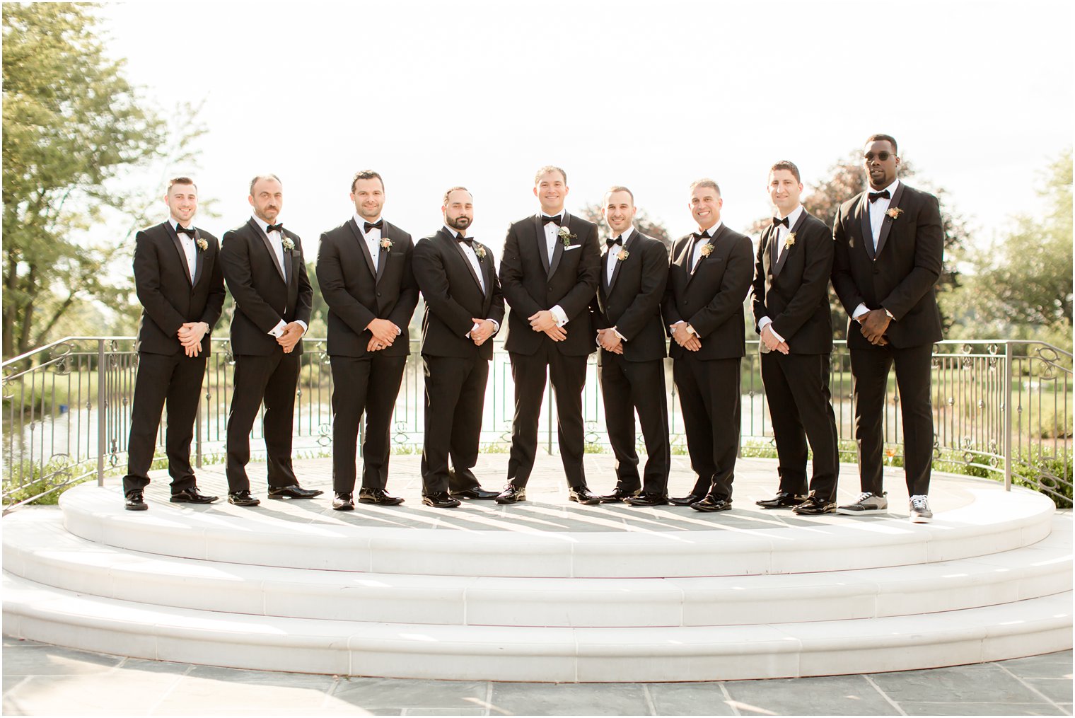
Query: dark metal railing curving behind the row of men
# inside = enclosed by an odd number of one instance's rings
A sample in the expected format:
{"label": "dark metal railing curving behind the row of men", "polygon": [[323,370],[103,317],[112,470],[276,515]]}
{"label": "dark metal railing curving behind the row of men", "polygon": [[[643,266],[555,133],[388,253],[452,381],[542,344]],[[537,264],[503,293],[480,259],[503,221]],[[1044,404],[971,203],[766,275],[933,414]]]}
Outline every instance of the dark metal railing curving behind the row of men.
{"label": "dark metal railing curving behind the row of men", "polygon": [[[296,397],[297,458],[331,451],[332,376],[326,342],[303,341]],[[422,371],[412,342],[393,417],[399,451],[420,451]],[[498,342],[489,372],[482,444],[505,450],[511,443],[514,386],[507,353]],[[134,340],[121,336],[70,336],[3,362],[3,504],[10,509],[87,477],[103,480],[126,469],[127,437],[138,354]],[[674,451],[686,439],[679,402],[665,382]],[[221,460],[231,402],[234,358],[227,339],[213,340],[205,370],[191,451],[196,465]],[[844,460],[854,461],[850,361],[837,342],[831,364],[833,407]],[[744,454],[771,454],[769,410],[759,373],[757,342],[749,342],[742,374]],[[1041,342],[946,341],[934,347],[934,460],[938,469],[1003,477],[1032,486],[1062,501],[1072,494],[1072,355]],[[546,392],[541,445],[557,450],[555,407]],[[584,394],[589,450],[607,446],[604,410],[593,356]],[[258,451],[260,421],[252,433]],[[642,449],[639,434],[640,450]],[[164,422],[158,433],[163,457]],[[885,415],[885,453],[902,462],[899,393],[889,377]]]}

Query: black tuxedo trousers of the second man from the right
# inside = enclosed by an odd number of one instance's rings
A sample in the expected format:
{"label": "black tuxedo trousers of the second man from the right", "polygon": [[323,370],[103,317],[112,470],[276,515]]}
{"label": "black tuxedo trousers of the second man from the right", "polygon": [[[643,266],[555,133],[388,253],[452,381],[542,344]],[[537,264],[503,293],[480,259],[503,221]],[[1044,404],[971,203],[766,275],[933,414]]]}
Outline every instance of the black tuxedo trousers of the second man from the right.
{"label": "black tuxedo trousers of the second man from the right", "polygon": [[[779,490],[798,496],[812,491],[822,501],[834,501],[840,447],[836,444],[836,415],[829,391],[829,355],[762,354],[761,382],[765,387],[779,458]],[[814,450],[814,472],[808,488],[807,440]]]}

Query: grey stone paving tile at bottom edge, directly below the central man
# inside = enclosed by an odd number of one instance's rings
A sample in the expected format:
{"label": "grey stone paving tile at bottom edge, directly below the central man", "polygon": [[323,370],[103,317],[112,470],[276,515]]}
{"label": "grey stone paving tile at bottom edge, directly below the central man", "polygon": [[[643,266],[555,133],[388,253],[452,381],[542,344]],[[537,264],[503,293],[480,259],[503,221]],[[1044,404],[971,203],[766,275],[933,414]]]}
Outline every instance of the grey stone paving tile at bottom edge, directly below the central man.
{"label": "grey stone paving tile at bottom edge, directly below the central man", "polygon": [[493,684],[491,716],[647,716],[639,684]]}

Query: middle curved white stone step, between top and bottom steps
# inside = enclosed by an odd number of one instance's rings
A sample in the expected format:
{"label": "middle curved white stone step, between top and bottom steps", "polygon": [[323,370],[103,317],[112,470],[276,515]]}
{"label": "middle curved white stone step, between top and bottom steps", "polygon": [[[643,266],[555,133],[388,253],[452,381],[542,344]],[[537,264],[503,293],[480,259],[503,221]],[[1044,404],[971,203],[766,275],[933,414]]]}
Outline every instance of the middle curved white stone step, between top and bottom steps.
{"label": "middle curved white stone step, between top and bottom steps", "polygon": [[4,519],[4,570],[111,599],[236,614],[527,627],[702,627],[905,616],[1071,590],[1072,521],[1032,546],[882,569],[674,578],[420,576],[162,557],[68,533],[58,512]]}

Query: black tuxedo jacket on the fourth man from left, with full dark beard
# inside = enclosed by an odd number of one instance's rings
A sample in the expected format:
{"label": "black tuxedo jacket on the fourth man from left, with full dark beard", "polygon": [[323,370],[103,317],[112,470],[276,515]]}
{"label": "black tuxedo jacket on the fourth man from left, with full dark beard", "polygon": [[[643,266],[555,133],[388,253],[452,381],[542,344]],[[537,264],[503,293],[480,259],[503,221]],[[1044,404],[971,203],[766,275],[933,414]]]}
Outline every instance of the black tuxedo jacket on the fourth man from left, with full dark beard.
{"label": "black tuxedo jacket on the fourth man from left, with full dark beard", "polygon": [[[414,247],[414,276],[426,298],[421,319],[421,353],[431,357],[492,359],[492,338],[475,346],[467,334],[473,317],[504,321],[504,297],[497,281],[492,253],[474,242],[485,291],[463,248],[445,228],[418,240]],[[481,249],[481,252],[478,252]]]}

